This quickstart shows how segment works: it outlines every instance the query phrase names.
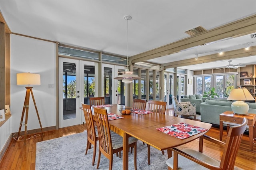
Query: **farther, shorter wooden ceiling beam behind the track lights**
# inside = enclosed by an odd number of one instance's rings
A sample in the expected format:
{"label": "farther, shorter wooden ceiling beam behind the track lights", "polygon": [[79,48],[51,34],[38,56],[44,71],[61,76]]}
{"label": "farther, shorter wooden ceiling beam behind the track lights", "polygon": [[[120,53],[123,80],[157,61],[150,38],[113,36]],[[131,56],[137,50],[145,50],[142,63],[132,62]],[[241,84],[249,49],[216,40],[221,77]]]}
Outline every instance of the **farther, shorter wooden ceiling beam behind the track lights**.
{"label": "farther, shorter wooden ceiling beam behind the track lights", "polygon": [[175,67],[182,67],[187,65],[195,65],[195,64],[202,64],[202,63],[210,63],[213,61],[221,61],[226,59],[234,59],[234,58],[241,58],[241,57],[249,57],[256,55],[256,46],[252,46],[249,50],[245,50],[244,48],[236,49],[232,51],[225,51],[222,55],[219,53],[214,53],[211,55],[205,55],[202,57],[198,57],[196,60],[195,58],[192,59],[184,59],[180,61],[174,61],[170,63],[161,64],[160,67],[167,68],[175,68]]}

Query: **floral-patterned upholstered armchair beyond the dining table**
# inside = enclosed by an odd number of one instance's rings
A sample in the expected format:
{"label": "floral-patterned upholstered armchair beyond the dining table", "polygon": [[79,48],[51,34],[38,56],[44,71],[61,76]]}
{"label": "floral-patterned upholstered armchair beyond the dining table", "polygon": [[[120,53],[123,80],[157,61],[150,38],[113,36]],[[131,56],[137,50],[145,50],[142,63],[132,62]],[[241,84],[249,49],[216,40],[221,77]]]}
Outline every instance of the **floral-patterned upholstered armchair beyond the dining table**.
{"label": "floral-patterned upholstered armchair beyond the dining table", "polygon": [[193,116],[194,120],[196,120],[196,104],[190,103],[190,101],[186,102],[178,102],[177,98],[172,96],[172,103],[174,106],[174,115],[190,117]]}

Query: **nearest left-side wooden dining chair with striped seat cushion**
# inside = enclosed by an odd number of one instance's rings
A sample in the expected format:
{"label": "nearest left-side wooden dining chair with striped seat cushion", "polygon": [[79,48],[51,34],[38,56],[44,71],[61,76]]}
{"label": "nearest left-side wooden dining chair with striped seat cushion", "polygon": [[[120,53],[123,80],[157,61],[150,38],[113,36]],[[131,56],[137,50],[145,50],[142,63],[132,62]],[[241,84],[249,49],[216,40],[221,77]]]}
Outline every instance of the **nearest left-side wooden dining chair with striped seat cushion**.
{"label": "nearest left-side wooden dining chair with striped seat cushion", "polygon": [[[109,160],[109,169],[112,170],[113,154],[123,150],[123,138],[119,134],[110,130],[108,113],[106,109],[94,107],[94,116],[99,134],[99,158],[97,169],[100,165],[101,153]],[[125,119],[125,118],[124,118]],[[134,137],[129,138],[129,148],[134,148],[134,168],[137,169],[137,141]]]}

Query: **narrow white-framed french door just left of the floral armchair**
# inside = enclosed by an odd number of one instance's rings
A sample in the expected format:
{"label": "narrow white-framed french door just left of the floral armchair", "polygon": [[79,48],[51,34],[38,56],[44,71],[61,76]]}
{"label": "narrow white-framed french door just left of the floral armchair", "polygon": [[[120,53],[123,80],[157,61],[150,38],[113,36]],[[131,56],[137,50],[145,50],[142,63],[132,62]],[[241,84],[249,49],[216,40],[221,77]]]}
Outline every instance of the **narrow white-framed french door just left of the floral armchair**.
{"label": "narrow white-framed french door just left of the floral armchair", "polygon": [[167,103],[166,107],[168,109],[173,108],[172,103],[173,95],[173,74],[164,73],[164,101]]}

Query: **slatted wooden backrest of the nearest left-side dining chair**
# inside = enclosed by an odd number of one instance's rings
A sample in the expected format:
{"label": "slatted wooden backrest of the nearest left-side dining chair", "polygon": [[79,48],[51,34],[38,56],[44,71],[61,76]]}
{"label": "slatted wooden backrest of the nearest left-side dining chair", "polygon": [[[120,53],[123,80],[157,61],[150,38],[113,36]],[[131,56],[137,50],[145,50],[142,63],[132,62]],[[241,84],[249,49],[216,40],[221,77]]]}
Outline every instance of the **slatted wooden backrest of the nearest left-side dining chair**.
{"label": "slatted wooden backrest of the nearest left-side dining chair", "polygon": [[108,113],[106,109],[100,109],[97,107],[94,107],[93,109],[98,128],[99,148],[104,156],[109,158],[110,155],[113,154],[113,148],[110,127],[108,123]]}

